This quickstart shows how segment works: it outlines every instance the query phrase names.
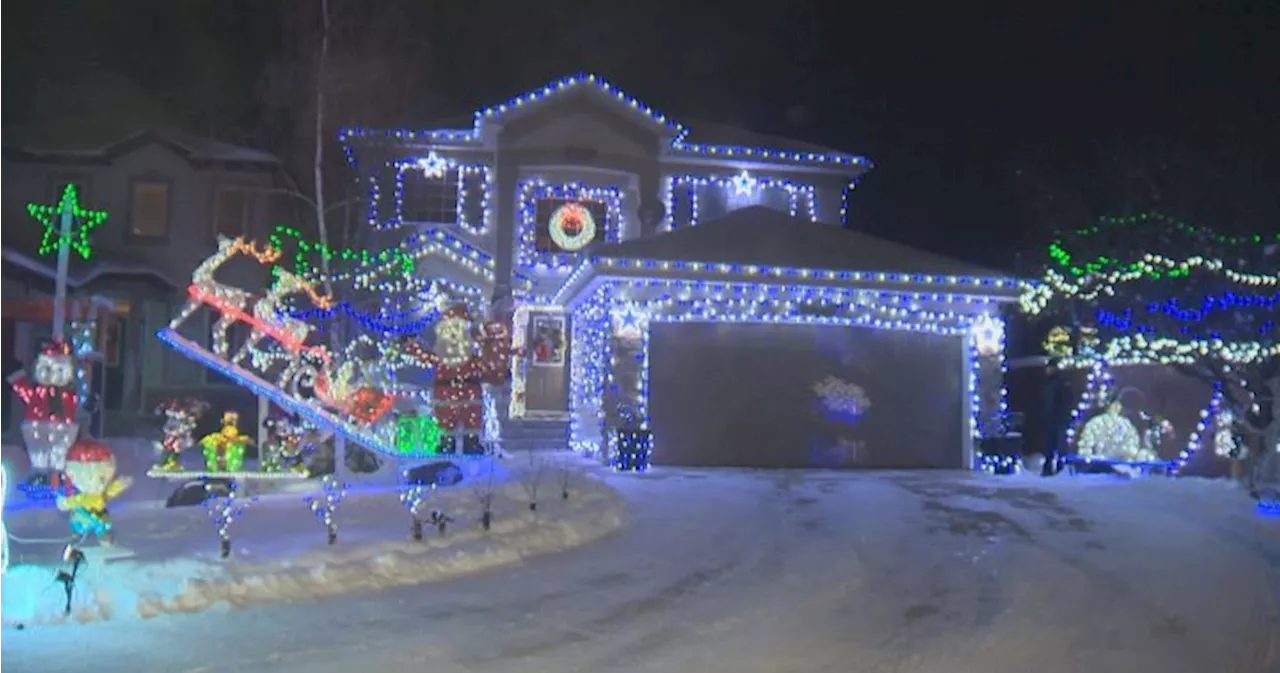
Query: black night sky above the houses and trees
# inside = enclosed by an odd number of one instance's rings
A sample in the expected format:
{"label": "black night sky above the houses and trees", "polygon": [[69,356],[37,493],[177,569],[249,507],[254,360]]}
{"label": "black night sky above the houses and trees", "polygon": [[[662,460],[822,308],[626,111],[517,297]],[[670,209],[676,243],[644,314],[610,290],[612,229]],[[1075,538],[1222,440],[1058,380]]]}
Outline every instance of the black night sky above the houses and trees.
{"label": "black night sky above the houses and trees", "polygon": [[[1280,223],[1275,0],[332,4],[335,128],[430,127],[588,70],[676,119],[864,154],[856,226],[988,264],[1102,214]],[[319,0],[14,5],[5,125],[90,99],[305,156],[289,73]]]}

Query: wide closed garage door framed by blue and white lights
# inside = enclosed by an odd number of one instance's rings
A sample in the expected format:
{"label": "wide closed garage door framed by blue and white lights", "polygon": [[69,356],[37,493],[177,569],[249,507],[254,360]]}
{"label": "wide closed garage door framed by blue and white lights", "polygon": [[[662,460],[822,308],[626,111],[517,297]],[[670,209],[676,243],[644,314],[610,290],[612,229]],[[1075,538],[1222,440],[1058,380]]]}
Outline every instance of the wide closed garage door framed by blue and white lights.
{"label": "wide closed garage door framed by blue and white lights", "polygon": [[763,324],[653,325],[655,464],[961,467],[956,336]]}

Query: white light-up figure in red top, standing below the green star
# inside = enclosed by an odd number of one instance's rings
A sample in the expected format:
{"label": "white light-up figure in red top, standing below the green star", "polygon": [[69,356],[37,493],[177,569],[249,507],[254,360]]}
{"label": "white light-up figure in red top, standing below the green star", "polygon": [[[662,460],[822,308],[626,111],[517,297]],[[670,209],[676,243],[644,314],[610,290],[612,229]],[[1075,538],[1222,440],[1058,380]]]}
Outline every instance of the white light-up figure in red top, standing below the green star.
{"label": "white light-up figure in red top, standing below the green star", "polygon": [[14,394],[26,407],[22,438],[31,457],[33,477],[49,480],[67,464],[67,449],[79,432],[76,422],[76,361],[70,345],[55,339],[36,357],[32,376],[9,376]]}

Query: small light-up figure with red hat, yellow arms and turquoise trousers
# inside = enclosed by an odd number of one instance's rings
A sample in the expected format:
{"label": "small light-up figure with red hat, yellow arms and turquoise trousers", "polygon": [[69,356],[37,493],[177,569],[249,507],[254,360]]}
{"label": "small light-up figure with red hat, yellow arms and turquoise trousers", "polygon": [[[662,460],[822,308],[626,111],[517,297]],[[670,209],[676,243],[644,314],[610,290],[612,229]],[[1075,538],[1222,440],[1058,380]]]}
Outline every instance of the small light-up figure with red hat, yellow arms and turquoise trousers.
{"label": "small light-up figure with red hat, yellow arms and turquoise trousers", "polygon": [[111,544],[111,516],[106,505],[124,493],[132,481],[116,476],[111,449],[92,439],[82,439],[67,453],[67,480],[73,495],[58,499],[58,509],[70,512],[72,532],[81,537],[97,537]]}

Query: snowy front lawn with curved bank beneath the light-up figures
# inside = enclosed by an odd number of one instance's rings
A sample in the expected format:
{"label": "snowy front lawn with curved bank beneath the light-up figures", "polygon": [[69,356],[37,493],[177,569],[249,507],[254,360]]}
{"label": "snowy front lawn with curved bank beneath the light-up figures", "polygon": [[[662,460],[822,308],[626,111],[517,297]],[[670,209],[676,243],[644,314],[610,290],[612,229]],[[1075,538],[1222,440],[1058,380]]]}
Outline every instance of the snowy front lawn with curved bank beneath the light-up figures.
{"label": "snowy front lawn with curved bank beneath the light-up figures", "polygon": [[429,495],[421,516],[442,511],[452,522],[443,535],[426,523],[421,541],[411,539],[413,518],[398,490],[353,487],[335,511],[338,540],[330,546],[324,523],[303,502],[306,495],[320,495],[320,484],[308,482],[306,491],[298,489],[302,484],[291,485],[297,493],[248,502],[230,526],[233,553],[227,559],[220,558],[216,526],[205,508],[165,509],[163,498],[172,487],[142,480],[113,507],[115,545],[133,557],[102,560],[90,542],[69,617],[55,581],[58,569],[69,569],[61,560],[67,516],[47,507],[10,508],[14,566],[0,576],[0,626],[150,618],[311,599],[439,581],[562,551],[623,522],[621,498],[582,467],[572,472],[567,500],[557,470],[544,468],[538,511],[531,512],[527,461],[502,461],[494,471],[492,530],[485,532],[480,513],[488,471],[472,466],[471,479]]}

